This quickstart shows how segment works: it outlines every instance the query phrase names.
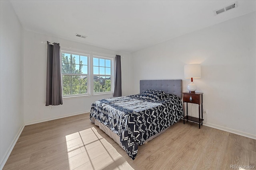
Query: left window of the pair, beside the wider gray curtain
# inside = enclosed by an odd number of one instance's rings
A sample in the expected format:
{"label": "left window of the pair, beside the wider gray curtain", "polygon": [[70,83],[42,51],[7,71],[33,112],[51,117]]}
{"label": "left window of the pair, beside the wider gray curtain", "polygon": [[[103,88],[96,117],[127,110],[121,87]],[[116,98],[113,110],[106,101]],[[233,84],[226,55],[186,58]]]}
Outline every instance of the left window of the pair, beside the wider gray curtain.
{"label": "left window of the pair, beside the wider gray curtain", "polygon": [[88,56],[62,52],[62,95],[88,94]]}

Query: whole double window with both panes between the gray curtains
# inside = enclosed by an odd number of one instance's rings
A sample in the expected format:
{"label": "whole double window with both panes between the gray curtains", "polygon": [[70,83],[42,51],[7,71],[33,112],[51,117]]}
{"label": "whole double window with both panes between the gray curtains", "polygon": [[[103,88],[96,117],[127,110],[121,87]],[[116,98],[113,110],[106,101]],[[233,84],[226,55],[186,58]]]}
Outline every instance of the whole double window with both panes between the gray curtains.
{"label": "whole double window with both panes between the gray curtains", "polygon": [[78,50],[62,50],[61,55],[63,97],[113,92],[114,57],[84,54]]}

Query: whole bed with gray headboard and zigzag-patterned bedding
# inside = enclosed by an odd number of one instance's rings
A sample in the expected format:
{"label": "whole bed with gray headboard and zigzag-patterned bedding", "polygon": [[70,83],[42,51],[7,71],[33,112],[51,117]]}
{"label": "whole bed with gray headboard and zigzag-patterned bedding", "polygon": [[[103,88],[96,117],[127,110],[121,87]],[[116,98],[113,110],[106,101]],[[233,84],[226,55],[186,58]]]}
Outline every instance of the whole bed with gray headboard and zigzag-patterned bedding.
{"label": "whole bed with gray headboard and zigzag-patterned bedding", "polygon": [[183,118],[182,80],[140,80],[140,94],[97,100],[90,119],[134,160],[138,145]]}

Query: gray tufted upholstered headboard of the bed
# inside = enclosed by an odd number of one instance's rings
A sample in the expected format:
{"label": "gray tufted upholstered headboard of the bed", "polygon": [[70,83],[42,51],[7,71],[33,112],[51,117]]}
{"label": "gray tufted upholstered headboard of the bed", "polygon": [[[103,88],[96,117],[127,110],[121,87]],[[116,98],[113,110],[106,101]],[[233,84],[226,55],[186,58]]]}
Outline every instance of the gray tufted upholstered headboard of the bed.
{"label": "gray tufted upholstered headboard of the bed", "polygon": [[140,80],[140,93],[148,89],[163,90],[182,98],[182,80]]}

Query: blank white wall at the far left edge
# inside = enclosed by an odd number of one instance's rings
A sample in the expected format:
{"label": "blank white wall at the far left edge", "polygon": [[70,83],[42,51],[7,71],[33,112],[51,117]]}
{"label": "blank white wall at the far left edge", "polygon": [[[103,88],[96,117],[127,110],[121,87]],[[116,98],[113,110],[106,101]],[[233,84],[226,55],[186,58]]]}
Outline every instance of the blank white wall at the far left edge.
{"label": "blank white wall at the far left edge", "polygon": [[0,1],[0,169],[24,127],[22,26],[9,1]]}

